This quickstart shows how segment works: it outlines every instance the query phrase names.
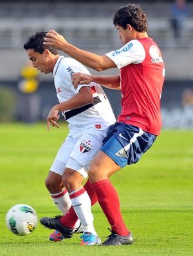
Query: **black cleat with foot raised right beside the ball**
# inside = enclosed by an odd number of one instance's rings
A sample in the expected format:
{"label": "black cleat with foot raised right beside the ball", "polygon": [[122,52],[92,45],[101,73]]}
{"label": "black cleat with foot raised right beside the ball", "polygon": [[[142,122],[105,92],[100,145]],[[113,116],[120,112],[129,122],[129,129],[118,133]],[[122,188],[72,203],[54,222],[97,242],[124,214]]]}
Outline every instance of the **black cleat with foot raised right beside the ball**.
{"label": "black cleat with foot raised right beside the ball", "polygon": [[57,215],[54,218],[44,217],[40,220],[40,222],[46,228],[60,231],[60,233],[64,238],[71,238],[73,236],[74,229],[66,228],[65,226],[63,226],[62,223],[60,223],[59,221],[60,217],[61,217],[60,215]]}

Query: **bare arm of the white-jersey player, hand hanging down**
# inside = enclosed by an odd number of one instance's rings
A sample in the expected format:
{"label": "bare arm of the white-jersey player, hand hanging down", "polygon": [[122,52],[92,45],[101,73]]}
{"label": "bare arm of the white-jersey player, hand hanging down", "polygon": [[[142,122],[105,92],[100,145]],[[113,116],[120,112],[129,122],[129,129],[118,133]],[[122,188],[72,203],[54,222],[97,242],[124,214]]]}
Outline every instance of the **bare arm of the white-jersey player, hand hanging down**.
{"label": "bare arm of the white-jersey player, hand hanging down", "polygon": [[50,131],[50,125],[56,126],[57,128],[60,127],[59,124],[57,124],[57,121],[60,118],[59,112],[71,110],[73,108],[79,108],[80,106],[84,106],[89,103],[93,103],[91,88],[89,86],[84,86],[80,88],[78,94],[71,97],[71,99],[69,99],[68,101],[53,106],[47,117],[48,131]]}

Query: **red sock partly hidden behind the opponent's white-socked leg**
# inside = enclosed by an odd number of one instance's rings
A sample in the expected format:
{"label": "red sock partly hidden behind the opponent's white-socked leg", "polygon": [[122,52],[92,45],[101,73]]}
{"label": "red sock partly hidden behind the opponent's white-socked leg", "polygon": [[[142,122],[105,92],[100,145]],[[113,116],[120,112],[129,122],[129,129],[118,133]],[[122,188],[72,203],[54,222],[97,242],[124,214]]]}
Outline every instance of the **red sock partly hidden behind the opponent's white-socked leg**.
{"label": "red sock partly hidden behind the opponent's white-socked leg", "polygon": [[[98,201],[98,199],[97,199],[95,190],[93,190],[93,188],[91,187],[91,183],[89,179],[87,179],[87,182],[84,184],[84,189],[86,190],[86,192],[88,193],[91,199],[91,205],[95,204]],[[74,196],[75,194],[73,195],[73,197]],[[68,213],[66,213],[66,215],[60,218],[60,222],[67,228],[73,228],[77,221],[78,221],[78,217],[77,217],[77,214],[75,213],[73,206],[69,208],[69,211]]]}

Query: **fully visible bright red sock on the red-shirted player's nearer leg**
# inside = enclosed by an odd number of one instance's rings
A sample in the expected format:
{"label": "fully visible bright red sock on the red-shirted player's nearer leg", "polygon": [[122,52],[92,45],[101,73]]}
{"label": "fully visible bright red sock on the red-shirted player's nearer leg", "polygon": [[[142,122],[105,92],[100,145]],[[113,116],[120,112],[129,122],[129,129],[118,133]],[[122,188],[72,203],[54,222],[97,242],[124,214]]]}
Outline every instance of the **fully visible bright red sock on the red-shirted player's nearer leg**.
{"label": "fully visible bright red sock on the red-shirted player's nearer leg", "polygon": [[105,213],[112,230],[118,235],[128,235],[130,233],[124,224],[122,214],[120,212],[120,201],[118,194],[111,182],[106,179],[92,184],[93,189],[98,197],[98,202]]}

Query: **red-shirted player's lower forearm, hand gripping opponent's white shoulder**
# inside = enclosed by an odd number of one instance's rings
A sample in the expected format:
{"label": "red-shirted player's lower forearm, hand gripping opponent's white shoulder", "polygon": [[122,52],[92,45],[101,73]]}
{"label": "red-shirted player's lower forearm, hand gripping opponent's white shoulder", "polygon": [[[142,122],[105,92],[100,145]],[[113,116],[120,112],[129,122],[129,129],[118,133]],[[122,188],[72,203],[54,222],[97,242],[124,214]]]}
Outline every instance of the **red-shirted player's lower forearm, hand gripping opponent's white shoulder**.
{"label": "red-shirted player's lower forearm, hand gripping opponent's white shoulder", "polygon": [[89,75],[83,73],[75,73],[72,75],[71,79],[75,88],[77,88],[78,84],[90,84],[94,82],[109,89],[121,89],[120,75]]}

